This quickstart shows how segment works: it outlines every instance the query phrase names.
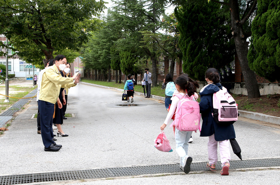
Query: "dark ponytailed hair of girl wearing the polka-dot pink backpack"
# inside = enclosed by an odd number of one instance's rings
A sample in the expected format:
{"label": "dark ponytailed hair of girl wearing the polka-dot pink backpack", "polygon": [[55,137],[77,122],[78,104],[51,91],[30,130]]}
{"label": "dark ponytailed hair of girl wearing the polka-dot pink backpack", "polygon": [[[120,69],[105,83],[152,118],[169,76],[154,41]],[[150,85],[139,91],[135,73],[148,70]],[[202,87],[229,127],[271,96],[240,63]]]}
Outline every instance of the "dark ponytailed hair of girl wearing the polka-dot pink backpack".
{"label": "dark ponytailed hair of girl wearing the polka-dot pink backpack", "polygon": [[197,81],[193,81],[188,77],[187,74],[182,74],[177,77],[175,83],[181,88],[186,90],[188,96],[194,95],[196,93],[196,89],[199,88]]}

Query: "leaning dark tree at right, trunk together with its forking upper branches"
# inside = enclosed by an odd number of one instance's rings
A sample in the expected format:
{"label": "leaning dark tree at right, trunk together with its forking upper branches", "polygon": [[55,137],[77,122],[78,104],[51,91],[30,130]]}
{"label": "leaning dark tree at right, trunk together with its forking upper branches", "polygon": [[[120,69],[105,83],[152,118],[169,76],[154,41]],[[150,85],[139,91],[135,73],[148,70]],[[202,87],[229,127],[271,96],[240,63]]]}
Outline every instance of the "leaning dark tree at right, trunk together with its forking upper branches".
{"label": "leaning dark tree at right, trunk together with its forking upper branches", "polygon": [[257,8],[257,0],[211,1],[225,6],[230,11],[232,37],[244,77],[245,87],[248,92],[248,98],[260,97],[255,72],[250,69],[247,58],[247,38],[252,35],[250,22],[252,20],[252,14]]}

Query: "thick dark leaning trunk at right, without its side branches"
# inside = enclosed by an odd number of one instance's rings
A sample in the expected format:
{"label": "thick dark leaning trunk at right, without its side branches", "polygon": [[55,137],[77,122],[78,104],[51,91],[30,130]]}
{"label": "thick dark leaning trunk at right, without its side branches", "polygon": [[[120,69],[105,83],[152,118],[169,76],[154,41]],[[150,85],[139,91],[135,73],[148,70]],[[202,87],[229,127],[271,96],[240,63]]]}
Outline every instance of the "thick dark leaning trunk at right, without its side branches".
{"label": "thick dark leaning trunk at right, without its side branches", "polygon": [[230,8],[232,35],[234,38],[235,49],[240,62],[241,71],[244,76],[248,98],[257,98],[260,97],[260,90],[255,72],[253,72],[248,65],[248,46],[246,42],[247,38],[244,36],[246,34],[244,33],[243,27],[240,24],[238,1],[231,0]]}

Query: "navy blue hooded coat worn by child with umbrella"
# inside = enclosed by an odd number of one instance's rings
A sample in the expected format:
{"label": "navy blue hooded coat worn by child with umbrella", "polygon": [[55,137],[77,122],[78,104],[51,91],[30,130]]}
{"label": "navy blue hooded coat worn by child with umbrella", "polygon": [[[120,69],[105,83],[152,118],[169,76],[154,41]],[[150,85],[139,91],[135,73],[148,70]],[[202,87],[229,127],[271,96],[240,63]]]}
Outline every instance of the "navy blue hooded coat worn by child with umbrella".
{"label": "navy blue hooded coat worn by child with umbrella", "polygon": [[217,124],[212,116],[213,93],[222,88],[220,83],[204,86],[200,92],[199,108],[202,117],[202,128],[200,136],[206,137],[215,134],[216,141],[223,141],[235,138],[235,131],[232,124]]}

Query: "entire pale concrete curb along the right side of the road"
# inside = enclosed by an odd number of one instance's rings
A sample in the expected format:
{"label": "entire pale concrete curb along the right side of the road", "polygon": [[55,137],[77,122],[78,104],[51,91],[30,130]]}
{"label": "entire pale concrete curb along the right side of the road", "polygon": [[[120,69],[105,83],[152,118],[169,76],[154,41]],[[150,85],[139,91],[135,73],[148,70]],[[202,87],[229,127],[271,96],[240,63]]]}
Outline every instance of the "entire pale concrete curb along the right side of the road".
{"label": "entire pale concrete curb along the right side of the road", "polygon": [[[114,88],[114,87],[100,86],[100,85],[96,85],[96,84],[93,84],[93,83],[86,83],[86,82],[81,82],[81,83],[86,84],[86,85],[90,85],[90,86],[97,86],[97,87],[102,87],[102,88],[107,88],[107,89],[113,89],[113,90],[117,90],[117,91],[120,91],[120,92],[123,91],[123,89],[118,89],[118,88]],[[135,95],[144,96],[144,93],[135,92]],[[165,97],[160,97],[160,96],[155,96],[155,95],[151,95],[150,97],[154,98],[154,99],[162,100],[162,101],[164,101],[164,99],[165,99]],[[276,125],[280,124],[280,118],[279,117],[270,116],[270,115],[266,115],[266,114],[262,114],[262,113],[241,111],[241,110],[238,110],[238,113],[240,114],[239,116],[242,116],[242,117],[245,117],[245,118],[250,118],[250,119],[253,119],[253,120],[259,120],[259,121],[264,121],[264,122],[269,122],[269,123],[276,124]]]}

